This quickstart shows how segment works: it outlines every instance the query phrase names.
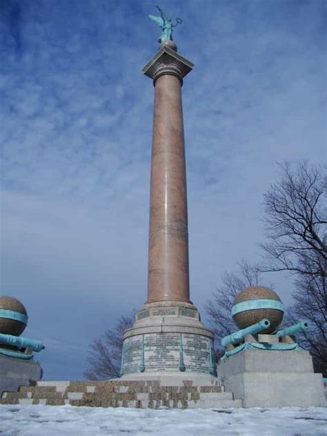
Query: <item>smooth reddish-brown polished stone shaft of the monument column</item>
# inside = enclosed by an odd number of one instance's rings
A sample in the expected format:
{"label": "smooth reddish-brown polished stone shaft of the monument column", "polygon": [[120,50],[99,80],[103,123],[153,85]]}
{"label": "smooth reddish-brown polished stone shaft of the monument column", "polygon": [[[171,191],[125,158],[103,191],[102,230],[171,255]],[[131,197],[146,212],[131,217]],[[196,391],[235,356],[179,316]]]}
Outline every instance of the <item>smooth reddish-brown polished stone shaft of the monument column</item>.
{"label": "smooth reddish-brown polished stone shaft of the monument column", "polygon": [[155,81],[148,256],[147,303],[190,303],[181,81],[171,74]]}

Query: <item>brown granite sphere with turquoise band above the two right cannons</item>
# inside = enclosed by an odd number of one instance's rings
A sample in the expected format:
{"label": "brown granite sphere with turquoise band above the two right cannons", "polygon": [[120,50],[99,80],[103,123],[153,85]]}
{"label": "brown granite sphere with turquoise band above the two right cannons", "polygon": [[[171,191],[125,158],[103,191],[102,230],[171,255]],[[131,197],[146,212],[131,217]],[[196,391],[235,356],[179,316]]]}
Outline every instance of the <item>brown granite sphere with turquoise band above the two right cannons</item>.
{"label": "brown granite sphere with turquoise band above the two right cannons", "polygon": [[272,333],[281,324],[283,315],[284,308],[280,298],[266,286],[245,288],[232,303],[232,318],[240,329],[268,318],[270,327],[260,333]]}

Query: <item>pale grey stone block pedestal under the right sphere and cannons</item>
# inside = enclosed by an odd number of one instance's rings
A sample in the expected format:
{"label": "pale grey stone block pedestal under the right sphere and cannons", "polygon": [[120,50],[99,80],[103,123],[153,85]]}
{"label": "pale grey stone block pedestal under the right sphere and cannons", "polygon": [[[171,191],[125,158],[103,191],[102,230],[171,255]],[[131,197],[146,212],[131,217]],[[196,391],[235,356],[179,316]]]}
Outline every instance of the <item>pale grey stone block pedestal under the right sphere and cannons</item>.
{"label": "pale grey stone block pedestal under the right sphere and cannons", "polygon": [[243,407],[324,407],[321,374],[304,350],[244,350],[217,367],[219,382]]}

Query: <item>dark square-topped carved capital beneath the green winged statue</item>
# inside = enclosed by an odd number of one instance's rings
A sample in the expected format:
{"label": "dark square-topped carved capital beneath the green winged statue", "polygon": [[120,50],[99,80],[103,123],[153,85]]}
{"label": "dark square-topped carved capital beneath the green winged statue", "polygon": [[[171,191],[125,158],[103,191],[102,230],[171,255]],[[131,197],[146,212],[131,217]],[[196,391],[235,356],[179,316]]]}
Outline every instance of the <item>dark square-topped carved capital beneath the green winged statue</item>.
{"label": "dark square-topped carved capital beneath the green winged statue", "polygon": [[162,75],[174,75],[183,83],[185,77],[193,68],[194,64],[185,57],[163,46],[158,50],[150,61],[142,68],[143,73],[153,79],[153,83]]}

